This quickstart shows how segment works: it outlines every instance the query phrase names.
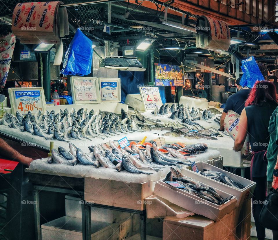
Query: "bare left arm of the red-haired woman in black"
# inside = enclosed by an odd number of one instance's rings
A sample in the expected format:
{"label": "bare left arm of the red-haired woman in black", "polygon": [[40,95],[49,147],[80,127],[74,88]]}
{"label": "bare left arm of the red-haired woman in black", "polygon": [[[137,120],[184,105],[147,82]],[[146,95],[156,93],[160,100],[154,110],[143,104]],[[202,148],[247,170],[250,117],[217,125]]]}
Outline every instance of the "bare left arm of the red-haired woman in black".
{"label": "bare left arm of the red-haired woman in black", "polygon": [[239,118],[238,133],[234,143],[235,151],[239,151],[243,147],[247,134],[248,134],[247,116],[246,116],[245,109],[243,109]]}

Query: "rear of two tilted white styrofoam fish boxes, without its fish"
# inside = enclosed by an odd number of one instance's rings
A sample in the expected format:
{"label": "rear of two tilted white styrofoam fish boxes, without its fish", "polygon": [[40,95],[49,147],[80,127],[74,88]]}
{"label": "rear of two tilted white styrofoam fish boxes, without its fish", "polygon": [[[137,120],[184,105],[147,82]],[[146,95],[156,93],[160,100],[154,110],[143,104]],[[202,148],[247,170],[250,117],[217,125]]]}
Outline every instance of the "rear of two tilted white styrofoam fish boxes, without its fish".
{"label": "rear of two tilted white styrofoam fish boxes, without its fish", "polygon": [[236,207],[241,206],[244,201],[251,199],[255,186],[256,186],[255,182],[252,182],[244,177],[240,177],[238,175],[225,171],[221,168],[217,168],[211,164],[207,164],[206,162],[201,162],[201,161],[196,162],[196,166],[199,171],[202,171],[203,169],[207,169],[210,171],[219,171],[221,173],[224,173],[224,175],[226,175],[226,177],[229,177],[233,182],[242,184],[244,186],[244,188],[240,189],[237,187],[232,187],[232,186],[229,186],[222,182],[213,180],[209,177],[201,175],[200,173],[196,173],[196,172],[192,171],[190,166],[184,167],[182,169],[181,173],[183,175],[185,175],[187,177],[191,177],[199,182],[206,182],[209,186],[212,186],[213,188],[216,188],[216,189],[222,190],[226,193],[230,193],[230,194],[234,195],[237,198]]}

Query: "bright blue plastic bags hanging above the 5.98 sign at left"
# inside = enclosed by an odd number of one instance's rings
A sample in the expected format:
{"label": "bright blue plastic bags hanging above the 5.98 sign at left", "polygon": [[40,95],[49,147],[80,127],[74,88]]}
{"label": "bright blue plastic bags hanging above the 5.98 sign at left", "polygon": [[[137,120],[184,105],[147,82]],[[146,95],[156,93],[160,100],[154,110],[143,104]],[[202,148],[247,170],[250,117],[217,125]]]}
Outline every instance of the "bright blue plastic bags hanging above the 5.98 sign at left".
{"label": "bright blue plastic bags hanging above the 5.98 sign at left", "polygon": [[91,73],[93,59],[93,43],[79,29],[77,29],[65,54],[64,75],[88,75]]}

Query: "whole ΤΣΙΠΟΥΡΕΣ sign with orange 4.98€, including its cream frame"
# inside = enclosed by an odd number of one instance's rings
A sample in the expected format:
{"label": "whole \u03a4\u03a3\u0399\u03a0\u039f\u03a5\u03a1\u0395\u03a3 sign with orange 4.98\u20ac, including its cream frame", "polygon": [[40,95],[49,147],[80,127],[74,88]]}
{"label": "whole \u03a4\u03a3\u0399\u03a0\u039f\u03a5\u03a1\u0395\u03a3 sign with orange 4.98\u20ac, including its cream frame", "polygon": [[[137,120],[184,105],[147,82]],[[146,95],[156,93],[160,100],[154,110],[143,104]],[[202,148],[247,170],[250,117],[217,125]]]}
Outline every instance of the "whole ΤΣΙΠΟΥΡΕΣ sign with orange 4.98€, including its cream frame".
{"label": "whole \u03a4\u03a3\u0399\u03a0\u039f\u03a5\u03a1\u0395\u03a3 sign with orange 4.98\u20ac, including its cream frame", "polygon": [[30,88],[10,88],[9,97],[11,101],[12,112],[17,111],[23,115],[28,111],[36,113],[37,111],[45,112],[45,96],[42,87]]}

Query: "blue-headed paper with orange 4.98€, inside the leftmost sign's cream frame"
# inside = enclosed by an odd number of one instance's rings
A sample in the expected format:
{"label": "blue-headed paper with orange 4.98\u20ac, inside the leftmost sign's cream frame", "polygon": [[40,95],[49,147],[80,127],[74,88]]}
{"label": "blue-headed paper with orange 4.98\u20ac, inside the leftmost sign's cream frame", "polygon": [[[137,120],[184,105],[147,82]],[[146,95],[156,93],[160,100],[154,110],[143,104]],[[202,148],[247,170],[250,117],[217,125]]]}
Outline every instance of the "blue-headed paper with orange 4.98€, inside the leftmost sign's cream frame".
{"label": "blue-headed paper with orange 4.98\u20ac, inside the leftmost sign's cream frame", "polygon": [[17,111],[26,114],[28,111],[36,113],[43,110],[43,102],[41,100],[41,92],[34,91],[14,91]]}

